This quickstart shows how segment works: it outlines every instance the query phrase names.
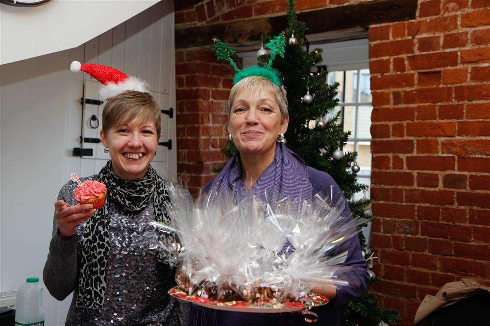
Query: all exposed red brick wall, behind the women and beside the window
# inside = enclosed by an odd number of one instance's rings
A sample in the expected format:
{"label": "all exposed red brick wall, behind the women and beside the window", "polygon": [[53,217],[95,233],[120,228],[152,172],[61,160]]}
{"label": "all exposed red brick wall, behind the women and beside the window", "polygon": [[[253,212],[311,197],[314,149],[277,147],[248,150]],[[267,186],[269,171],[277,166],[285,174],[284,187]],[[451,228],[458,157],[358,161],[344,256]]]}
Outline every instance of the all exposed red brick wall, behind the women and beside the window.
{"label": "all exposed red brick wall, behind the women and beside the window", "polygon": [[[184,1],[185,2],[185,1]],[[298,11],[345,0],[296,1]],[[176,28],[284,13],[286,0],[208,0]],[[490,279],[490,1],[419,1],[417,19],[369,28],[374,287],[404,324],[425,294],[461,276]],[[209,49],[179,49],[178,171],[199,187],[221,166],[233,70]]]}

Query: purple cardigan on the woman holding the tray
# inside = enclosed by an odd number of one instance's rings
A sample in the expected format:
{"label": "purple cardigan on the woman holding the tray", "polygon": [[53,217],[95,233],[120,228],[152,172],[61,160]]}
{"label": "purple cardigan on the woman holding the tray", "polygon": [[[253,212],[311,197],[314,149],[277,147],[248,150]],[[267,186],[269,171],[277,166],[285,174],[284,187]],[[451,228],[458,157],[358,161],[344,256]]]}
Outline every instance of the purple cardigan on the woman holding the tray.
{"label": "purple cardigan on the woman holding the tray", "polygon": [[[308,177],[313,186],[312,196],[317,193],[330,194],[330,186],[333,185],[334,201],[335,196],[343,196],[337,183],[327,173],[318,171],[312,167],[308,168]],[[204,186],[202,192],[207,193],[211,188],[211,180]],[[345,214],[351,215],[348,206],[345,208]],[[322,326],[340,326],[341,325],[341,307],[348,304],[353,299],[361,296],[367,289],[369,274],[366,260],[364,259],[359,239],[352,237],[343,244],[343,248],[348,248],[345,264],[358,267],[349,278],[349,285],[337,288],[335,300],[329,304],[313,308],[312,311],[319,315],[317,325]],[[278,314],[259,314],[259,313],[236,313],[221,310],[202,308],[195,304],[190,309],[190,325],[192,326],[218,326],[218,325],[235,325],[235,326],[283,326],[283,325],[311,325],[306,323],[300,313],[278,313]]]}

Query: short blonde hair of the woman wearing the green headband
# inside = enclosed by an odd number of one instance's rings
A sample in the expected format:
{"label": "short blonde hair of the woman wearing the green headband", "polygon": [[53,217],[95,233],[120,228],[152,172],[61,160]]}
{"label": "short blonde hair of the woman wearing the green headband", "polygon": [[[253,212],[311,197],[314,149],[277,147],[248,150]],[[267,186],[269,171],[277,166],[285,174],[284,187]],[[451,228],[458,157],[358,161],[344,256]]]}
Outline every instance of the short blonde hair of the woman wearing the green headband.
{"label": "short blonde hair of the woman wearing the green headband", "polygon": [[242,92],[256,92],[265,89],[275,94],[277,104],[281,110],[281,123],[288,116],[288,98],[286,97],[286,91],[283,91],[279,86],[272,83],[269,79],[261,76],[250,76],[242,79],[231,88],[230,98],[228,99],[228,121],[230,120],[231,109],[233,102],[235,102],[235,96]]}

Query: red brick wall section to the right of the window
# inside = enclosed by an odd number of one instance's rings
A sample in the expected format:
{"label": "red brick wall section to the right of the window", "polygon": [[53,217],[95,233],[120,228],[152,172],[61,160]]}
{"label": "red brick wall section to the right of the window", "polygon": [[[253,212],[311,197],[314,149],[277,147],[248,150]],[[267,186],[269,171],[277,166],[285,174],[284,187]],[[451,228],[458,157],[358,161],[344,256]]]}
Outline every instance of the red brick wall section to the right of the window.
{"label": "red brick wall section to the right of the window", "polygon": [[419,1],[371,26],[376,291],[409,319],[426,294],[490,279],[490,1]]}

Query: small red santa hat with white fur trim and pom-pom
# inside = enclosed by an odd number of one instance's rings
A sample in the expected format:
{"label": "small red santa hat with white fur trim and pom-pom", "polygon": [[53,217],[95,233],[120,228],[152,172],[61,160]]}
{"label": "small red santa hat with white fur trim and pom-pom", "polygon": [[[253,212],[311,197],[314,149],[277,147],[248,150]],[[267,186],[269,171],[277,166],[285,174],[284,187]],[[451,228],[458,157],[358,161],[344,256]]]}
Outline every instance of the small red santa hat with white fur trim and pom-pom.
{"label": "small red santa hat with white fur trim and pom-pom", "polygon": [[85,71],[95,79],[97,79],[102,86],[98,90],[100,100],[116,96],[126,90],[136,90],[139,92],[147,92],[148,85],[145,81],[138,77],[127,76],[122,71],[113,67],[98,64],[80,64],[78,61],[73,61],[70,65],[72,72]]}

